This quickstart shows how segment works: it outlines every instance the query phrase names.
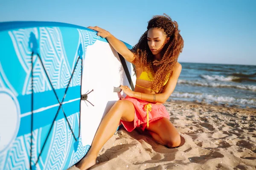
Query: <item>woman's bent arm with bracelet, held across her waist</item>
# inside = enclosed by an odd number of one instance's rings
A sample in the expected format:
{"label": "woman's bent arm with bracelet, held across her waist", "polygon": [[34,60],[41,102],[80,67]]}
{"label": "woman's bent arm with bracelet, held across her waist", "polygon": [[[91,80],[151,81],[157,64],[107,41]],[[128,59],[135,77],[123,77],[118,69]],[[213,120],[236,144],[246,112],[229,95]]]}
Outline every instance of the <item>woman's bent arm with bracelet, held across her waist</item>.
{"label": "woman's bent arm with bracelet, held across her waist", "polygon": [[166,83],[163,92],[160,94],[144,94],[140,92],[134,92],[131,93],[131,97],[142,99],[148,102],[158,102],[158,103],[164,103],[166,100],[171,96],[172,92],[175,89],[175,86],[177,84],[177,80],[180,76],[181,72],[181,65],[177,62],[175,68],[172,71],[172,74],[169,77],[168,82]]}

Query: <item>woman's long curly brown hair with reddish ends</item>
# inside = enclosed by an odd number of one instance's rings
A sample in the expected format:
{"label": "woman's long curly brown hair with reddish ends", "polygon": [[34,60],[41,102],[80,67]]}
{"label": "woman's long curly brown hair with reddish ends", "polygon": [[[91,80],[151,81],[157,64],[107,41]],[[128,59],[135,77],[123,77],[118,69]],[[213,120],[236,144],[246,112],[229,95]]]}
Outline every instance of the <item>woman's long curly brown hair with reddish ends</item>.
{"label": "woman's long curly brown hair with reddish ends", "polygon": [[[147,35],[150,28],[162,28],[166,35],[166,42],[160,52],[162,57],[160,61],[154,60],[154,56],[148,47]],[[140,37],[139,42],[134,45],[131,51],[136,57],[136,68],[141,68],[147,73],[151,72],[154,76],[154,81],[149,84],[152,90],[158,91],[158,93],[163,91],[164,82],[167,81],[168,74],[172,73],[183,46],[184,41],[180,35],[178,23],[172,21],[167,14],[155,15],[148,21],[147,31]],[[153,71],[153,65],[158,68],[156,72]],[[135,73],[136,68],[134,68]]]}

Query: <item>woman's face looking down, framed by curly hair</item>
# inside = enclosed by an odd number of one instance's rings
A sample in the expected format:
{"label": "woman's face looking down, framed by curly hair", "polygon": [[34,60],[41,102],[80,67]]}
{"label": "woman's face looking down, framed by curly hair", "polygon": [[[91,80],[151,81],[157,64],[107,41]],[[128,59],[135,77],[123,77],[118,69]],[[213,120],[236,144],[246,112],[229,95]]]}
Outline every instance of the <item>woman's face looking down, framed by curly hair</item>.
{"label": "woman's face looking down, framed by curly hair", "polygon": [[160,53],[166,40],[166,35],[161,28],[150,28],[148,30],[148,47],[153,55]]}

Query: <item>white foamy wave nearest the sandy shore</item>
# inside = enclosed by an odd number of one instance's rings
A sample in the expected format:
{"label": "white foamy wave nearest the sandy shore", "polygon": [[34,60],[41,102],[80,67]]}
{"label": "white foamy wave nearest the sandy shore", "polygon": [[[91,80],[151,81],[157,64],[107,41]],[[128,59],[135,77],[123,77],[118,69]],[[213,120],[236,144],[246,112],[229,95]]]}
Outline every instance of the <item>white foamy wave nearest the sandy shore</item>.
{"label": "white foamy wave nearest the sandy shore", "polygon": [[174,92],[171,97],[179,98],[192,98],[196,100],[206,100],[206,102],[217,102],[217,103],[232,103],[242,105],[256,105],[255,99],[236,99],[230,96],[215,96],[212,94],[201,94],[201,93],[180,93]]}

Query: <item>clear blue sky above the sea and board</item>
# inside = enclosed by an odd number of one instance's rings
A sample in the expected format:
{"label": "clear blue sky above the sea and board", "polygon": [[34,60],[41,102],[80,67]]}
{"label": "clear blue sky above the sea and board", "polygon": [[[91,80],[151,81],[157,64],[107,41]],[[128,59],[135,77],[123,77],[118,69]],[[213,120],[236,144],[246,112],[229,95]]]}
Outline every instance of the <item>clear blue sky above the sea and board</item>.
{"label": "clear blue sky above the sea and board", "polygon": [[256,65],[256,0],[0,0],[0,22],[100,26],[135,45],[153,15],[169,14],[184,39],[180,62]]}

